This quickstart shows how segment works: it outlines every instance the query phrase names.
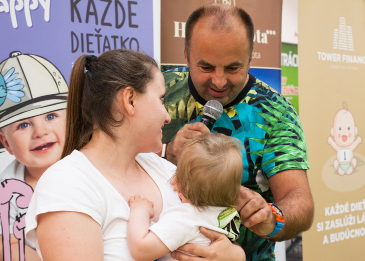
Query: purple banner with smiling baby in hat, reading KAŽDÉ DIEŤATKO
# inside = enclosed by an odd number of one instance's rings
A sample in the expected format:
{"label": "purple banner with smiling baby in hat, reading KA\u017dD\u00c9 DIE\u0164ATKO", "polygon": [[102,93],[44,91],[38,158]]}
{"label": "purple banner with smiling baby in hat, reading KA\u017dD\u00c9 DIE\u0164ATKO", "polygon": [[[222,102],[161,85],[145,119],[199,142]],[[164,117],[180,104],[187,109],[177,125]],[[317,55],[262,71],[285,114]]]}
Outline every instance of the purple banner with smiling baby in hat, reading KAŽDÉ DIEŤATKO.
{"label": "purple banner with smiling baby in hat, reading KA\u017dD\u00c9 DIE\u0164ATKO", "polygon": [[24,218],[62,152],[73,62],[112,49],[154,57],[152,13],[152,0],[0,0],[1,260],[40,260]]}

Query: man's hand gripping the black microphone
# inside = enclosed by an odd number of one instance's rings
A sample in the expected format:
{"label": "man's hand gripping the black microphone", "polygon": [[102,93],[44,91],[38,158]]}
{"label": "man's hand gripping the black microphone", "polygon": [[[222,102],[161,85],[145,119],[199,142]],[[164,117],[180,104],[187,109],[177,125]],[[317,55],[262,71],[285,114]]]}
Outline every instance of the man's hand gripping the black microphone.
{"label": "man's hand gripping the black microphone", "polygon": [[167,143],[166,148],[166,159],[176,164],[177,155],[180,152],[181,146],[188,140],[199,136],[200,134],[210,132],[208,127],[206,127],[201,122],[194,122],[190,124],[185,124],[176,134],[176,137]]}

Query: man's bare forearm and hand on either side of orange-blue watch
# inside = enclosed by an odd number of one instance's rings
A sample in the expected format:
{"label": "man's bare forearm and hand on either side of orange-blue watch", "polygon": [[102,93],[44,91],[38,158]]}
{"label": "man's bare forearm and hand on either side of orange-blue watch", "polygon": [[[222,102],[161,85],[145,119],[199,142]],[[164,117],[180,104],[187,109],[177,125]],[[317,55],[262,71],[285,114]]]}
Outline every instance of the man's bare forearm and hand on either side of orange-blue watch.
{"label": "man's bare forearm and hand on either side of orange-blue watch", "polygon": [[[272,175],[268,182],[274,202],[285,216],[283,228],[270,240],[287,240],[309,229],[313,221],[314,203],[306,171],[284,170]],[[236,200],[236,209],[239,211],[242,224],[254,233],[268,235],[274,230],[274,215],[260,194],[242,186]]]}

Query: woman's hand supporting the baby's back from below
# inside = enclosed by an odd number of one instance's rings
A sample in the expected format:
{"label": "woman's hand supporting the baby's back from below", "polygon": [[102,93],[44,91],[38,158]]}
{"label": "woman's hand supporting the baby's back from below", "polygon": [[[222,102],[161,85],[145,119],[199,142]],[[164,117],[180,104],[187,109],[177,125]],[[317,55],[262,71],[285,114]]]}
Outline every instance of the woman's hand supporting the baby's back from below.
{"label": "woman's hand supporting the baby's back from below", "polygon": [[228,237],[226,237],[224,234],[206,229],[204,227],[200,227],[200,232],[211,240],[209,246],[187,243],[177,249],[195,254],[197,256],[191,256],[179,251],[173,251],[171,252],[171,257],[180,261],[244,261],[246,259],[246,255],[242,247],[232,244]]}

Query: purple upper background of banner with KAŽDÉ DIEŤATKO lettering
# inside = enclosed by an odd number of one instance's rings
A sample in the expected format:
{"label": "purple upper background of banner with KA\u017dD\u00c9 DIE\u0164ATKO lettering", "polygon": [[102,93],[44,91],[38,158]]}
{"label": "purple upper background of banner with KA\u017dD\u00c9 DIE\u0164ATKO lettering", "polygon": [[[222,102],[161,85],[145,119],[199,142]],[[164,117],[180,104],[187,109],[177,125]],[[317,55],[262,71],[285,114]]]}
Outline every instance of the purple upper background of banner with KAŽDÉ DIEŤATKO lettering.
{"label": "purple upper background of banner with KA\u017dD\u00c9 DIE\u0164ATKO lettering", "polygon": [[67,82],[82,54],[124,48],[153,57],[152,0],[4,0],[0,24],[0,61],[13,51],[42,56]]}

